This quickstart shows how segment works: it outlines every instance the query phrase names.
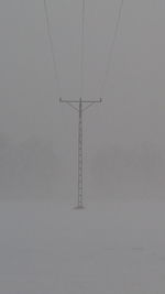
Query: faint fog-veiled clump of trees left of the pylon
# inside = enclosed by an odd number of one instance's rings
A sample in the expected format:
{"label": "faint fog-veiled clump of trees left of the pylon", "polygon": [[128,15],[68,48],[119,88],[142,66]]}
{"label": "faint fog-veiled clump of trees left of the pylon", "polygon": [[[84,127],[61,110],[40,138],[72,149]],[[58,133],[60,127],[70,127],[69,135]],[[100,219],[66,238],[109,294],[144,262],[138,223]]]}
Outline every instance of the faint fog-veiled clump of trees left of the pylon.
{"label": "faint fog-veiled clump of trees left of the pylon", "polygon": [[0,133],[0,198],[52,194],[58,183],[53,143],[38,137],[15,144]]}

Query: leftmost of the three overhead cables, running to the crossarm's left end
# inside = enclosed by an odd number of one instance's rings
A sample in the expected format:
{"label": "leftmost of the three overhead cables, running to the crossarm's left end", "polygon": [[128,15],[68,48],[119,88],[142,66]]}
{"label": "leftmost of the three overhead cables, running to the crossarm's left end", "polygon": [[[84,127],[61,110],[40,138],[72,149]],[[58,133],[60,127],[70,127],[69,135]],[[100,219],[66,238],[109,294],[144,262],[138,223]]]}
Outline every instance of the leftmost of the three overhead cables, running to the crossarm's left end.
{"label": "leftmost of the three overhead cables, running to the crossarm's left end", "polygon": [[45,12],[46,30],[47,30],[48,41],[50,41],[52,61],[53,61],[54,78],[55,78],[56,88],[57,88],[57,96],[61,97],[62,89],[61,89],[59,75],[58,75],[57,63],[56,63],[55,46],[54,46],[53,36],[52,36],[51,20],[48,15],[48,7],[47,7],[46,0],[44,0],[44,12]]}

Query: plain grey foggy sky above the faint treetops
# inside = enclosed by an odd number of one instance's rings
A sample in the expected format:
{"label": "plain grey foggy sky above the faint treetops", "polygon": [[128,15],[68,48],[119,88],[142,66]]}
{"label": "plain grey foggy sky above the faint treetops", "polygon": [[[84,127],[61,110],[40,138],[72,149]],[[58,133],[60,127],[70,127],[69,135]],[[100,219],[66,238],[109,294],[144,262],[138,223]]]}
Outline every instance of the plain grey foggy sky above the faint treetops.
{"label": "plain grey foggy sky above the faint treetops", "polygon": [[[15,144],[32,135],[53,141],[73,178],[77,117],[59,106],[58,96],[79,98],[81,1],[47,3],[62,92],[54,80],[43,1],[0,1],[0,132]],[[89,99],[100,95],[119,3],[86,1],[85,96]],[[124,1],[103,104],[85,115],[88,162],[111,146],[141,150],[147,144],[164,154],[164,14],[163,0]]]}

